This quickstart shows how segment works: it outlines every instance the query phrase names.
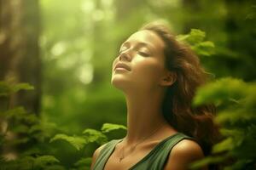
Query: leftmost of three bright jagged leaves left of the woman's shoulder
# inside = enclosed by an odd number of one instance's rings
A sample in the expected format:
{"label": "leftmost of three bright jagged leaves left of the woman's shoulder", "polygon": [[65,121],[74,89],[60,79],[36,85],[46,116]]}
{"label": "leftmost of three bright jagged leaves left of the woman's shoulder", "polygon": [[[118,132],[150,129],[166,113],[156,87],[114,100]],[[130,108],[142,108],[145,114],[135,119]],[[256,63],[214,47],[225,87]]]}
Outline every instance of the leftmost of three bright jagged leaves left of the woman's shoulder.
{"label": "leftmost of three bright jagged leaves left of the woman's shoulder", "polygon": [[79,136],[67,136],[67,134],[56,134],[54,138],[50,139],[49,142],[53,142],[55,140],[65,140],[69,144],[72,144],[77,150],[81,150],[86,144],[86,140]]}

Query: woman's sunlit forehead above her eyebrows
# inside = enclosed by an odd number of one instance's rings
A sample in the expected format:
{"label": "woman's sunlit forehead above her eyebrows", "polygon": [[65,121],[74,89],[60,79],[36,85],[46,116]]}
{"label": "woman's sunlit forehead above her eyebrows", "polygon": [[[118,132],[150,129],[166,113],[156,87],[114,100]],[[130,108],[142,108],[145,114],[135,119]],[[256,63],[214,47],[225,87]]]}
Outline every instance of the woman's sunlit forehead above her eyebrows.
{"label": "woman's sunlit forehead above her eyebrows", "polygon": [[125,42],[130,43],[138,43],[143,42],[148,44],[148,46],[151,46],[154,48],[154,50],[160,50],[162,51],[165,47],[165,43],[162,41],[162,39],[154,33],[154,31],[137,31],[133,33]]}

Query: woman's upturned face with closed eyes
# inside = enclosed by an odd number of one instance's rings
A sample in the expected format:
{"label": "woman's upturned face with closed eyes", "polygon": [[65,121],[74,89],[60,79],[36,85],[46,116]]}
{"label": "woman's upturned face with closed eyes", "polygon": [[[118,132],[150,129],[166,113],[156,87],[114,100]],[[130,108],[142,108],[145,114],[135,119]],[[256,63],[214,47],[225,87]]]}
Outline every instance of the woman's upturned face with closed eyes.
{"label": "woman's upturned face with closed eyes", "polygon": [[154,31],[143,30],[132,34],[122,43],[119,56],[113,60],[113,86],[139,91],[159,88],[166,72],[164,47],[165,43]]}

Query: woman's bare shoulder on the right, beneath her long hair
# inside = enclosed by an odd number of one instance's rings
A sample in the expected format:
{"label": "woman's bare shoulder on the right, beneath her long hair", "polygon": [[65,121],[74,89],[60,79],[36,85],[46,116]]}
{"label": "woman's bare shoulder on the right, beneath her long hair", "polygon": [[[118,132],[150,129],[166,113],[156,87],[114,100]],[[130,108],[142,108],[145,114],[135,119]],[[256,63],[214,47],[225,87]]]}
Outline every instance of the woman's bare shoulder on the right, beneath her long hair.
{"label": "woman's bare shoulder on the right, beneath her long hair", "polygon": [[[189,164],[204,157],[201,146],[193,140],[183,139],[170,152],[165,170],[189,169]],[[207,167],[202,169],[206,170]]]}

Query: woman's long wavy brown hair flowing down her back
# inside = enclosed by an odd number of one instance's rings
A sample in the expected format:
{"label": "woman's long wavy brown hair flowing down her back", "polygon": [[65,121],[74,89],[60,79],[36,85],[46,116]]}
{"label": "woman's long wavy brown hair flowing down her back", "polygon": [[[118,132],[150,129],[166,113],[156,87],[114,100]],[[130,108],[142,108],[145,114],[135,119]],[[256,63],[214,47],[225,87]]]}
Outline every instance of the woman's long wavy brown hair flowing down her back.
{"label": "woman's long wavy brown hair flowing down her back", "polygon": [[218,140],[218,127],[213,122],[215,107],[201,105],[192,107],[196,89],[207,82],[208,74],[201,67],[200,59],[189,45],[178,42],[169,28],[149,23],[140,30],[154,31],[164,42],[165,64],[176,74],[176,82],[166,89],[162,112],[166,121],[177,131],[193,137],[210,154],[212,144]]}

